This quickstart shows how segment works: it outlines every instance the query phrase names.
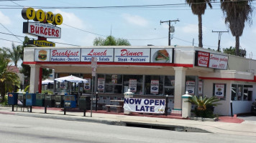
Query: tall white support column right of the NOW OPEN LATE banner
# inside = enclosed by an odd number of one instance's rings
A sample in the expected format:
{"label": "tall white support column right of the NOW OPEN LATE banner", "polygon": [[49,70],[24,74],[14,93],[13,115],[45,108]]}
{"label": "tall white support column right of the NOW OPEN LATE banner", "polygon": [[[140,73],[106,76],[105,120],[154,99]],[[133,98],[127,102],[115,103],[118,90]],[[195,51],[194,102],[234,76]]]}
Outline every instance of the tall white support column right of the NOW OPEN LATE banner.
{"label": "tall white support column right of the NOW OPEN LATE banner", "polygon": [[175,89],[174,89],[174,109],[172,110],[172,115],[181,116],[182,109],[182,98],[181,96],[185,94],[186,85],[186,68],[185,67],[173,67],[175,70]]}

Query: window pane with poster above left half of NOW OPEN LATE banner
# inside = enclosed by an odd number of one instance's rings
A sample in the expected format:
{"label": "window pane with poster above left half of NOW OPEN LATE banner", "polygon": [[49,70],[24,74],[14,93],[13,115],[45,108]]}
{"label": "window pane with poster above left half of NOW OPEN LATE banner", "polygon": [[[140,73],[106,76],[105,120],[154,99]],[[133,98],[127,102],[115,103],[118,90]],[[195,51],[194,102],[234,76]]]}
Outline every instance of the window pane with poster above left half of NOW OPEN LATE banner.
{"label": "window pane with poster above left half of NOW OPEN LATE banner", "polygon": [[134,92],[134,94],[142,94],[142,84],[142,75],[124,75],[124,92],[131,89],[131,92]]}

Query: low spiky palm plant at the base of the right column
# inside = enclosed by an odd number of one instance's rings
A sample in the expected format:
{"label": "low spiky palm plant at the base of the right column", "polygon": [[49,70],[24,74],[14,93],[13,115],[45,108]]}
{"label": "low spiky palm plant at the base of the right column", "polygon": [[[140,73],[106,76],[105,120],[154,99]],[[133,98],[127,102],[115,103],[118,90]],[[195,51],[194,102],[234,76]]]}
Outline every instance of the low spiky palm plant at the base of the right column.
{"label": "low spiky palm plant at the base of the right column", "polygon": [[196,97],[192,96],[188,98],[187,102],[195,105],[193,112],[196,114],[196,117],[214,117],[214,107],[218,105],[220,100],[217,97]]}

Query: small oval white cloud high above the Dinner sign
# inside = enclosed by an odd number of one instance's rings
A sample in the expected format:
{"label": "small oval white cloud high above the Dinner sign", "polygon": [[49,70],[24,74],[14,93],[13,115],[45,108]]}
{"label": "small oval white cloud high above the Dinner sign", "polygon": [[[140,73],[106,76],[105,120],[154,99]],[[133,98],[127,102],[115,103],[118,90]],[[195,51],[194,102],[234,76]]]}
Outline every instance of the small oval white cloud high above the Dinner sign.
{"label": "small oval white cloud high above the Dinner sign", "polygon": [[122,14],[123,18],[129,23],[137,26],[147,26],[148,21],[142,16],[131,15],[131,14]]}

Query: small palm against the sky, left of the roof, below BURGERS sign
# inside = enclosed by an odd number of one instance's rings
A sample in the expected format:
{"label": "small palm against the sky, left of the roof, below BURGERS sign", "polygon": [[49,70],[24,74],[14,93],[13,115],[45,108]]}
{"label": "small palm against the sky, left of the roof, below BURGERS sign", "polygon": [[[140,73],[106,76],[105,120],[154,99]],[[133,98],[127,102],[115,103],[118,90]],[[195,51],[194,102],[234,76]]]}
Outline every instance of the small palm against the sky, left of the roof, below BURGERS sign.
{"label": "small palm against the sky, left of the roof, below BURGERS sign", "polygon": [[20,52],[22,51],[22,46],[15,46],[14,43],[12,43],[12,49],[4,47],[4,50],[7,51],[7,54],[9,58],[12,59],[12,61],[14,62],[14,65],[17,66],[17,62],[19,61],[19,59],[21,59],[22,56],[20,54]]}

